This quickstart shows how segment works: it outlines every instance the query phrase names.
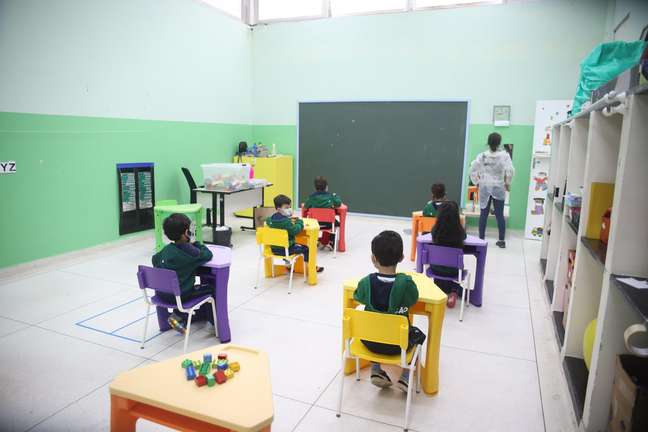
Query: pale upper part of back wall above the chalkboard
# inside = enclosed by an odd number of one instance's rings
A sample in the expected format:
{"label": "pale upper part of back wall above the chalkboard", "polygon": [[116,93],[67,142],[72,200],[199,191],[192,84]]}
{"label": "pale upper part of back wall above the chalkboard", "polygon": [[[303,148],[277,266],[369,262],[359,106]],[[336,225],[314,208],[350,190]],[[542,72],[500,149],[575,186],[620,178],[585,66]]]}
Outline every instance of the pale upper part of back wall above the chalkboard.
{"label": "pale upper part of back wall above the chalkboard", "polygon": [[[646,0],[648,1],[648,0]],[[472,100],[471,122],[571,99],[603,41],[607,0],[542,0],[257,26],[254,123],[295,124],[300,100]]]}

